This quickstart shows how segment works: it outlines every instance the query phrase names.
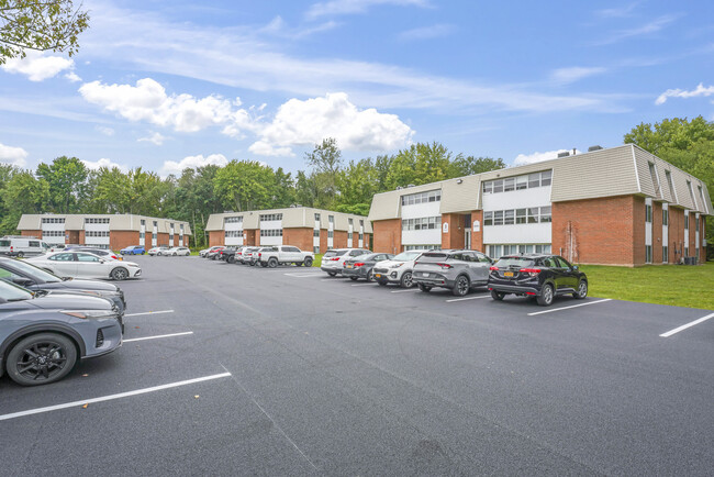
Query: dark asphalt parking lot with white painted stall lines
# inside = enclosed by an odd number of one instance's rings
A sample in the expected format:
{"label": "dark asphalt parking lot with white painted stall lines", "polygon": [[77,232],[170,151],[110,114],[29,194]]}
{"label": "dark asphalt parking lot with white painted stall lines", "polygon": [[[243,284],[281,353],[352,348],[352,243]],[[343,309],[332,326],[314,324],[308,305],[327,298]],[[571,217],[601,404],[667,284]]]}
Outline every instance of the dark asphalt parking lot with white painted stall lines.
{"label": "dark asphalt parking lot with white painted stall lines", "polygon": [[714,468],[711,310],[132,259],[120,350],[51,386],[0,380],[3,473]]}

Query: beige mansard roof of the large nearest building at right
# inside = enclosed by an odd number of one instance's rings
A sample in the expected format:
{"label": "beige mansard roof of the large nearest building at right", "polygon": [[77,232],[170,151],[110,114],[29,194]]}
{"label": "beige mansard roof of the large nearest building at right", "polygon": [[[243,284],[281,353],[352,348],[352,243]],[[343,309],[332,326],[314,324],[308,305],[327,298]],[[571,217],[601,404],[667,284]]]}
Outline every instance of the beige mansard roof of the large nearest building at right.
{"label": "beige mansard roof of the large nearest building at right", "polygon": [[[655,166],[655,180],[659,187],[652,180],[650,163]],[[714,213],[709,190],[703,181],[639,146],[625,144],[607,149],[378,193],[372,198],[369,220],[398,219],[401,217],[400,198],[402,196],[439,189],[442,190],[440,213],[480,210],[482,208],[482,181],[543,170],[553,170],[551,202],[639,195],[703,214]],[[670,191],[667,173],[672,179],[676,197],[672,197]],[[688,182],[692,186],[695,203],[692,202]],[[704,200],[700,198],[700,187]]]}

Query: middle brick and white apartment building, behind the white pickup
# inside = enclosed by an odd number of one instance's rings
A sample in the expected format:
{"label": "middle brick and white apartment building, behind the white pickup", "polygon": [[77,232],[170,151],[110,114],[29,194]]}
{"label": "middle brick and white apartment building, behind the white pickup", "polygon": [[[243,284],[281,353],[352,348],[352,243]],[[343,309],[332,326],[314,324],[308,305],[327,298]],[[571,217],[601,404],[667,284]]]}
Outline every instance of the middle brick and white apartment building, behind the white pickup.
{"label": "middle brick and white apartment building, behind the white pickup", "polygon": [[372,229],[366,217],[309,207],[213,213],[205,225],[209,245],[294,245],[325,253],[368,247]]}

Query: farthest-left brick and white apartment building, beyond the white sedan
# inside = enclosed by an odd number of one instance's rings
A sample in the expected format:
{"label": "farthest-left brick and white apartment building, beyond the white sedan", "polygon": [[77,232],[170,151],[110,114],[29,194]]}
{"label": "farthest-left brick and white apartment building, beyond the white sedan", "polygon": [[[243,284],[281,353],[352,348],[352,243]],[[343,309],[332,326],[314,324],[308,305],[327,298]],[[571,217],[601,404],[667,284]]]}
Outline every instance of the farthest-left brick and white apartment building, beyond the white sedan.
{"label": "farthest-left brick and white apartment building, beyond the white sedan", "polygon": [[134,214],[23,214],[22,235],[51,244],[79,244],[122,249],[129,245],[188,246],[188,222]]}

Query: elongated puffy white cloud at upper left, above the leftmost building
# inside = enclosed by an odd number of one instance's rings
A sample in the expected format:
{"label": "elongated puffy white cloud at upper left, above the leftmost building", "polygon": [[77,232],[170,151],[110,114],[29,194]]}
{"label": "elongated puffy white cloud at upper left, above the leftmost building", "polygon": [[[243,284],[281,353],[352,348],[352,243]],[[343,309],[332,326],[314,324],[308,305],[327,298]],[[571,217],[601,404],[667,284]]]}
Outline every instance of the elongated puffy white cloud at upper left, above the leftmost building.
{"label": "elongated puffy white cloud at upper left, above the leftmost building", "polygon": [[130,121],[146,121],[169,126],[180,132],[197,132],[209,126],[224,125],[226,134],[236,135],[242,126],[249,126],[248,112],[234,109],[241,100],[230,101],[220,96],[194,98],[191,95],[167,95],[166,89],[152,78],[132,85],[103,85],[92,81],[82,85],[79,92],[85,100]]}

